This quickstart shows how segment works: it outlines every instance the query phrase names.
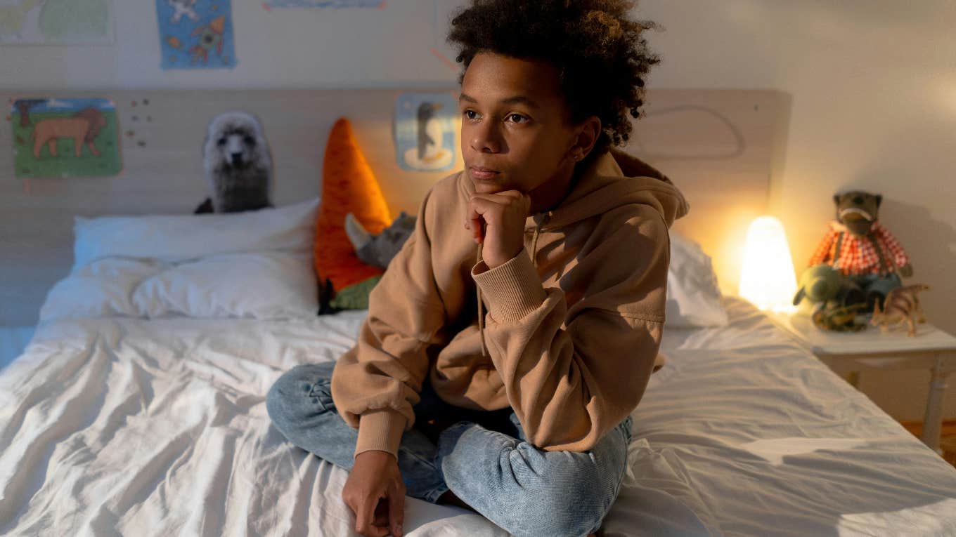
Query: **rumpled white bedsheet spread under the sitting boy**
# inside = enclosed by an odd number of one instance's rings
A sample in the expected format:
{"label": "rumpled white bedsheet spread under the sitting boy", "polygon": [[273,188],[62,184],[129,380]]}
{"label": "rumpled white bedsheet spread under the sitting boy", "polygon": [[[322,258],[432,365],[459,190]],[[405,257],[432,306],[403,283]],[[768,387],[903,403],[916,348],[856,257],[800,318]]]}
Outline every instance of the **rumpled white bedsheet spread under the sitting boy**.
{"label": "rumpled white bedsheet spread under the sitting boy", "polygon": [[[761,315],[671,331],[635,411],[609,536],[956,534],[956,470]],[[62,320],[0,373],[0,533],[354,535],[346,473],[264,397],[364,311],[295,321]],[[507,535],[408,498],[411,536]]]}

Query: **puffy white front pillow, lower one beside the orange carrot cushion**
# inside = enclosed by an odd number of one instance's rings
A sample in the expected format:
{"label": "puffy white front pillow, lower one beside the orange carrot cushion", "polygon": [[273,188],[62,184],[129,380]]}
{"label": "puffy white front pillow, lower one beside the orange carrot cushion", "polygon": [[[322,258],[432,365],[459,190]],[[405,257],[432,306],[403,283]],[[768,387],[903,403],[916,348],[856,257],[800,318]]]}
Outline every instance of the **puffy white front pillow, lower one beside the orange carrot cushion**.
{"label": "puffy white front pillow, lower one beside the orange carrot cushion", "polygon": [[132,302],[149,318],[315,316],[313,256],[311,252],[253,252],[203,257],[142,282]]}

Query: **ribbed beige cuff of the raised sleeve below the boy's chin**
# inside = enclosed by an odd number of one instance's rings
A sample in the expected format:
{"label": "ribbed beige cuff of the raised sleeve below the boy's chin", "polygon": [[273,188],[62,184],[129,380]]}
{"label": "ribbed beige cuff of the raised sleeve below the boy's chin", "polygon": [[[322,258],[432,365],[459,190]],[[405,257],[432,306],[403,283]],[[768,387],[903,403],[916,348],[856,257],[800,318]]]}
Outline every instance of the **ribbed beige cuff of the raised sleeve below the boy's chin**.
{"label": "ribbed beige cuff of the raised sleeve below the boy's chin", "polygon": [[488,299],[489,312],[498,322],[520,320],[540,308],[548,297],[527,249],[494,269],[479,262],[471,269],[471,277]]}

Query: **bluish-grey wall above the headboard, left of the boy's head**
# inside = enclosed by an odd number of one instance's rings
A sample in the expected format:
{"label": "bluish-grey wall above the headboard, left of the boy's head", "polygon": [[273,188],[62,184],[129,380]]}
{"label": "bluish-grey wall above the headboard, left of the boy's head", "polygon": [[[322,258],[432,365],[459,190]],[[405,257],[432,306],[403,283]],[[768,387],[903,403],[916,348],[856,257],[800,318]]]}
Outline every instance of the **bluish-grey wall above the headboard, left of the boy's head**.
{"label": "bluish-grey wall above the headboard, left of the boy's head", "polygon": [[113,0],[114,45],[0,46],[5,88],[316,88],[383,87],[455,80],[431,53],[435,2],[391,0],[385,9],[266,11],[257,0],[232,0],[232,70],[160,69],[154,0]]}

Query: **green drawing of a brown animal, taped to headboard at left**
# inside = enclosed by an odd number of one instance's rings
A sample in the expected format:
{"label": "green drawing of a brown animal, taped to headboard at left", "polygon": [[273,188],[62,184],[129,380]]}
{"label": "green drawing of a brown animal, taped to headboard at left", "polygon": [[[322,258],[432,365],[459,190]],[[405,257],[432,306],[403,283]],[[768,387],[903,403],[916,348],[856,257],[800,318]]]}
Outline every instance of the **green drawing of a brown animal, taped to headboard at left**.
{"label": "green drawing of a brown animal, taped to headboard at left", "polygon": [[18,99],[11,125],[16,177],[108,177],[122,169],[109,99]]}

